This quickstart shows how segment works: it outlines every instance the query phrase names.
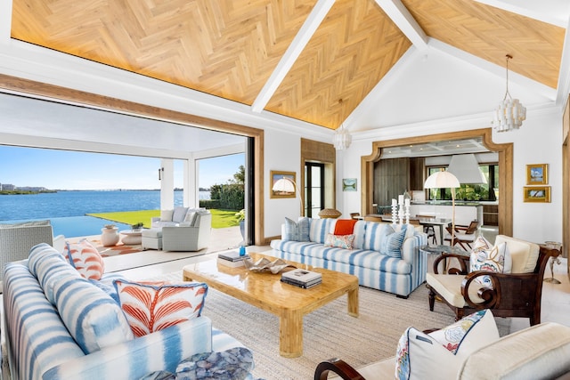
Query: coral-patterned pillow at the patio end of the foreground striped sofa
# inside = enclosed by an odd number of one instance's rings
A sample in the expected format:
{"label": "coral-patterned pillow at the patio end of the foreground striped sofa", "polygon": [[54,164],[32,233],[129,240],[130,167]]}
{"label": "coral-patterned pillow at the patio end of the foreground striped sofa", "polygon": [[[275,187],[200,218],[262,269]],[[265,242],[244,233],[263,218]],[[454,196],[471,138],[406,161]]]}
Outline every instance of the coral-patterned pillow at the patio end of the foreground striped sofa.
{"label": "coral-patterned pillow at the patio end of the foreground striped sofa", "polygon": [[101,254],[87,239],[82,239],[77,244],[66,242],[62,254],[84,279],[99,280],[105,272]]}

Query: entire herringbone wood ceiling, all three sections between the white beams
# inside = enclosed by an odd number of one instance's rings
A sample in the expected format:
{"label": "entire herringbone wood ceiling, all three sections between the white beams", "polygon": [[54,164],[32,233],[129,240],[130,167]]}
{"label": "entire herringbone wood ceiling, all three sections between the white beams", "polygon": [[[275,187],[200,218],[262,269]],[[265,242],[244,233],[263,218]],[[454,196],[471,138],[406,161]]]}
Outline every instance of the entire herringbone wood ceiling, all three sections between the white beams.
{"label": "entire herringbone wood ceiling, all three sections between the white beams", "polygon": [[[12,0],[12,38],[252,105],[317,0]],[[556,88],[566,30],[470,0],[402,0],[427,36]],[[411,46],[338,0],[265,109],[331,129]]]}

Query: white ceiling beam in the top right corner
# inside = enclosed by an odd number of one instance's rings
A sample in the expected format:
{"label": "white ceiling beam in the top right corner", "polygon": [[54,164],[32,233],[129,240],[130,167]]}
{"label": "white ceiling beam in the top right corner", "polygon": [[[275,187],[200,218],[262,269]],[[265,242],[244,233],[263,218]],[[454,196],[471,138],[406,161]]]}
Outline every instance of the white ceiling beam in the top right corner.
{"label": "white ceiling beam in the top right corner", "polygon": [[[549,4],[544,4],[544,1],[532,1],[526,2],[521,6],[521,2],[513,2],[516,4],[510,4],[504,0],[474,0],[477,3],[486,4],[494,6],[495,8],[502,9],[503,11],[518,13],[522,16],[528,17],[534,20],[541,20],[558,27],[566,28],[568,20],[566,20],[567,12],[551,12],[552,7]],[[557,0],[554,0],[558,2]],[[566,2],[565,2],[566,3]],[[567,4],[566,4],[567,7]],[[545,10],[550,12],[545,12]],[[567,11],[567,8],[566,8]]]}

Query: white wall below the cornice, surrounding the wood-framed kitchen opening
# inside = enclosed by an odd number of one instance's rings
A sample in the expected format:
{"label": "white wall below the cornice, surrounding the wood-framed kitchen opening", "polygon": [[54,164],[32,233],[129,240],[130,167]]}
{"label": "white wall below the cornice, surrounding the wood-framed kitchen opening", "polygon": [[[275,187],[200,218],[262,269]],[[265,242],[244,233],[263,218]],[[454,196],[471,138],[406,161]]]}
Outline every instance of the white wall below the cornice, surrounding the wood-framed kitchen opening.
{"label": "white wall below the cornice, surrounding the wood-framed kitchen opening", "polygon": [[[443,123],[422,125],[423,131],[431,133],[454,132],[459,129]],[[457,126],[457,125],[456,125]],[[461,125],[460,125],[461,126]],[[489,125],[477,121],[464,123],[465,130],[485,128]],[[387,131],[389,139],[421,135],[418,128],[400,131]],[[356,133],[354,143],[343,151],[342,160],[338,160],[338,196],[337,208],[343,217],[361,210],[361,164],[362,156],[371,154],[371,141],[387,139],[386,135],[368,135],[365,140]],[[562,111],[558,108],[538,109],[527,111],[527,119],[518,131],[508,133],[493,133],[493,141],[497,143],[513,142],[513,236],[538,243],[546,240],[561,241],[562,239]],[[550,203],[525,203],[523,187],[526,181],[527,164],[549,164],[549,183],[551,192]],[[342,178],[357,178],[358,191],[342,191]]]}

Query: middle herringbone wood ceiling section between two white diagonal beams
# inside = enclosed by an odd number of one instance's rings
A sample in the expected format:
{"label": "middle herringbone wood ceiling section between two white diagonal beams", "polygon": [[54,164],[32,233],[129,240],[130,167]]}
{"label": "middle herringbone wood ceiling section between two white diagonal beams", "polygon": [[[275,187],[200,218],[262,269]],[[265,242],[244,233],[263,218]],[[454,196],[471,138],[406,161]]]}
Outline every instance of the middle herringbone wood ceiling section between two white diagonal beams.
{"label": "middle herringbone wood ceiling section between two white diagonal beams", "polygon": [[337,1],[266,109],[336,129],[410,46],[374,0]]}

